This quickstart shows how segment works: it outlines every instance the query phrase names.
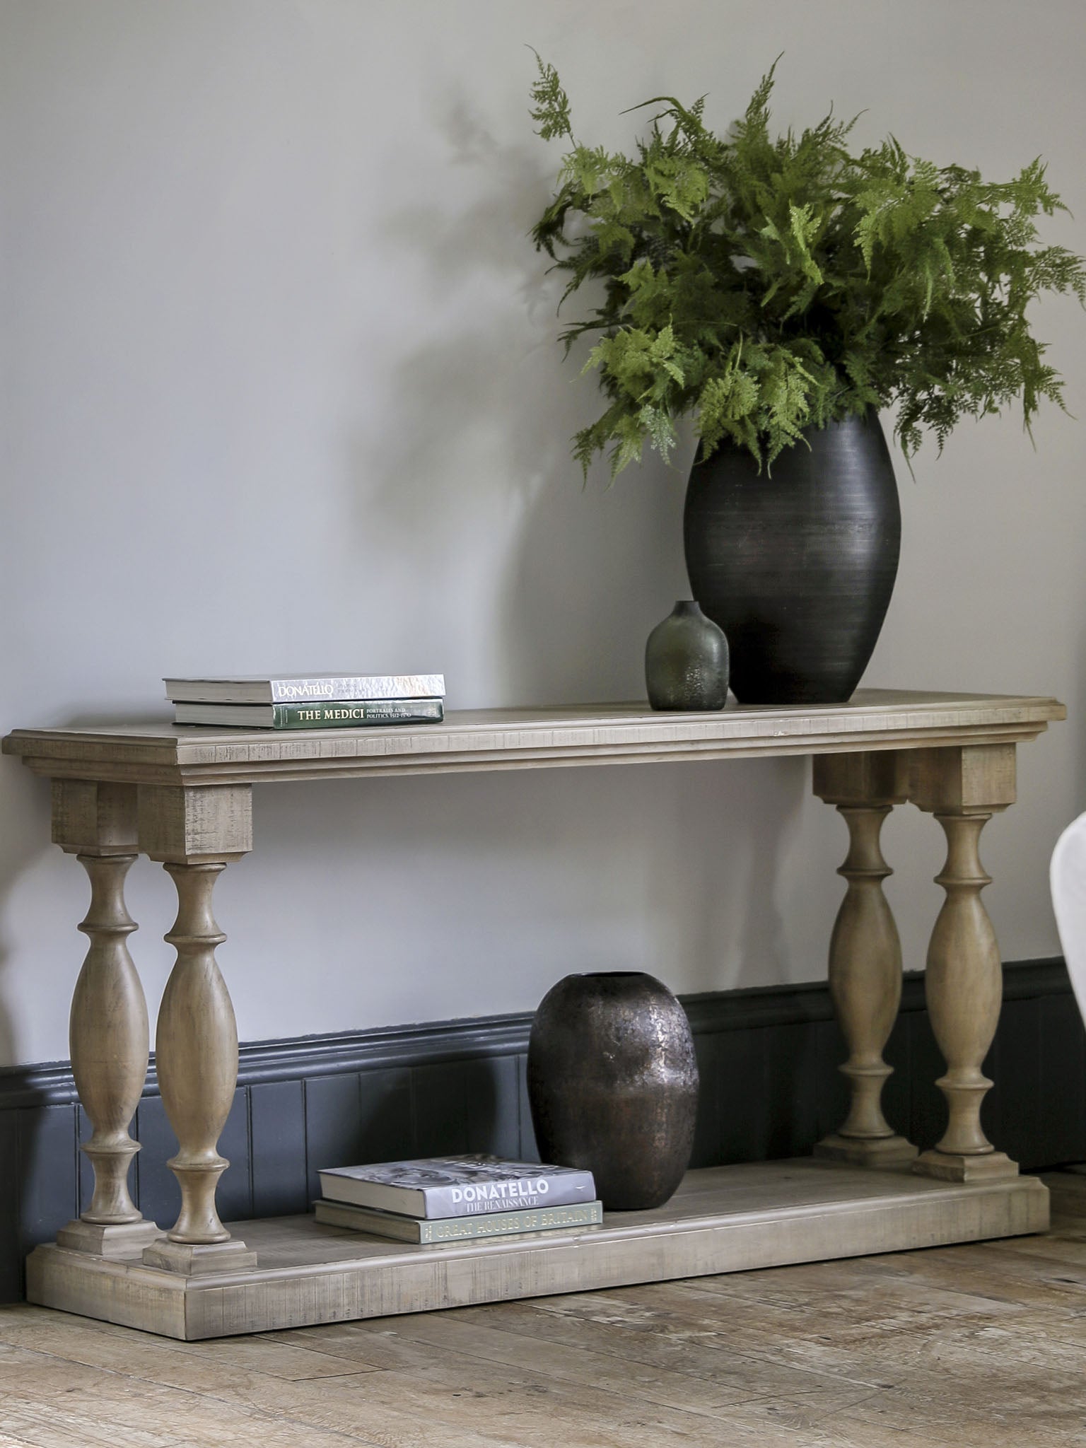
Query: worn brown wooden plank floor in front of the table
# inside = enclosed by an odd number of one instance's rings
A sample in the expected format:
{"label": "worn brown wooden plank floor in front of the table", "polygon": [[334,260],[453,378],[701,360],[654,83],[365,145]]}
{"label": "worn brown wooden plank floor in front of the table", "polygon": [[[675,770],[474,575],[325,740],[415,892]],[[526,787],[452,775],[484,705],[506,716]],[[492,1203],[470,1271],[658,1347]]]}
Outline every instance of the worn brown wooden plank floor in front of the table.
{"label": "worn brown wooden plank floor in front of the table", "polygon": [[1054,1231],[174,1342],[0,1308],[0,1448],[1086,1445],[1086,1177]]}

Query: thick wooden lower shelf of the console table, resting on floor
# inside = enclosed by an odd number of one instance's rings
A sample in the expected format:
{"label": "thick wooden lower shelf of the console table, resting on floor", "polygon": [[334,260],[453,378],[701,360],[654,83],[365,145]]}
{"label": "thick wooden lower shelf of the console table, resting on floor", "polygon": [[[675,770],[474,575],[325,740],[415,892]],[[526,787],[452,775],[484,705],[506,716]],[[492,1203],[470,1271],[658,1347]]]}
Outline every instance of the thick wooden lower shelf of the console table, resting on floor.
{"label": "thick wooden lower shelf of the console table, resting on floor", "polygon": [[689,1171],[666,1206],[601,1226],[427,1247],[319,1225],[237,1222],[256,1267],[184,1277],[38,1247],[28,1297],[171,1338],[313,1326],[478,1302],[1018,1237],[1048,1228],[1035,1177],[982,1184],[799,1158]]}

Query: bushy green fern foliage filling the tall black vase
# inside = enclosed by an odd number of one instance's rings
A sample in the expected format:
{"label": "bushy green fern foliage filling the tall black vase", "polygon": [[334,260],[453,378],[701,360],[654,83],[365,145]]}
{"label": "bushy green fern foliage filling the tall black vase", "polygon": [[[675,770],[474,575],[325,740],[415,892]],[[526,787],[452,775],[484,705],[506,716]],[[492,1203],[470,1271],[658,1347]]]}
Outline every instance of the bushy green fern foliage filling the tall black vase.
{"label": "bushy green fern foliage filling the tall black vase", "polygon": [[[1060,375],[1027,323],[1041,292],[1086,304],[1082,258],[1043,246],[1035,217],[1066,210],[1031,162],[1012,181],[935,167],[893,139],[853,155],[854,122],[833,111],[776,139],[773,68],[725,136],[704,97],[662,110],[633,158],[582,145],[557,72],[539,56],[537,133],[563,138],[557,190],[531,236],[566,297],[604,282],[604,301],[562,333],[597,333],[604,414],[575,437],[585,472],[611,475],[649,440],[666,459],[694,417],[702,452],[724,439],[770,465],[782,447],[869,407],[896,405],[905,458],[922,429],[943,443],[963,416],[1021,398],[1063,405]],[[640,110],[641,107],[634,107]]]}

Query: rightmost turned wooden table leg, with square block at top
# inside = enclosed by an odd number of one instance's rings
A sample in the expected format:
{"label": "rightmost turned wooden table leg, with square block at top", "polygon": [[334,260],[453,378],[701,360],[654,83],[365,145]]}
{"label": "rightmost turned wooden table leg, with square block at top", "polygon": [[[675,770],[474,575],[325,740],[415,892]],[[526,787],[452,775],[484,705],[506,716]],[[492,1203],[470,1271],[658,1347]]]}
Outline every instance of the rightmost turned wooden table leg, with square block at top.
{"label": "rightmost turned wooden table leg, with square block at top", "polygon": [[938,1086],[950,1119],[943,1140],[914,1166],[925,1176],[975,1182],[1016,1176],[1018,1166],[996,1151],[980,1125],[980,1103],[992,1082],[982,1064],[999,1024],[1003,972],[982,889],[980,831],[1014,804],[1014,744],[921,750],[912,798],[935,815],[947,835],[947,863],[935,882],[946,891],[928,947],[925,992],[935,1040],[947,1063]]}

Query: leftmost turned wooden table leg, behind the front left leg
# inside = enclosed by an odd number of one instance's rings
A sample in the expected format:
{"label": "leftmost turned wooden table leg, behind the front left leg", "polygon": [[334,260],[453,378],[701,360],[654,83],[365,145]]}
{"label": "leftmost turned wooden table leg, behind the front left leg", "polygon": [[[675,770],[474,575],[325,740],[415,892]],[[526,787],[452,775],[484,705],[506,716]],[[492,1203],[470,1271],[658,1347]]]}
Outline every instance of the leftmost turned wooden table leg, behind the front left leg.
{"label": "leftmost turned wooden table leg, behind the front left leg", "polygon": [[91,1124],[83,1151],[94,1169],[90,1206],[56,1241],[75,1251],[123,1257],[159,1235],[142,1218],[127,1183],[139,1151],[129,1125],[148,1074],[148,1008],[126,943],[136,928],[125,908],[125,876],[136,859],[135,789],[56,780],[54,840],[77,856],[91,886],[80,925],[90,948],[72,995],[68,1041],[75,1089]]}

